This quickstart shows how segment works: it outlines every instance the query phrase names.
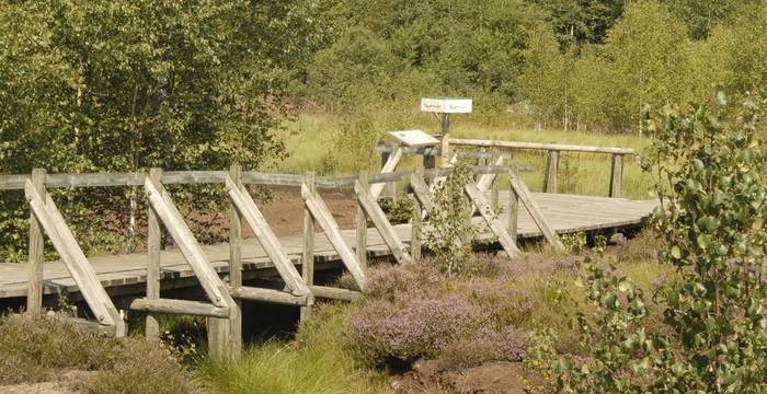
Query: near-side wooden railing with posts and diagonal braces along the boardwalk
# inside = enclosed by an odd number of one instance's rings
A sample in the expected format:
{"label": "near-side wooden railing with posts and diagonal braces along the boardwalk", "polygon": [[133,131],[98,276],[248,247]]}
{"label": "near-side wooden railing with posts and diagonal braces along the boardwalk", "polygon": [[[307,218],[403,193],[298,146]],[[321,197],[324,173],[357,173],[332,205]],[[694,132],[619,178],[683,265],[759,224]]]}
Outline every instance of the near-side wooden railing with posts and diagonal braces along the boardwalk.
{"label": "near-side wooden railing with posts and diagonal braces along the boardwalk", "polygon": [[[558,248],[562,248],[558,235],[547,223],[538,209],[530,192],[507,166],[473,166],[479,175],[474,183],[470,181],[465,193],[467,199],[479,210],[501,246],[510,256],[516,256],[517,207],[520,201],[538,224],[545,237]],[[176,171],[163,172],[151,169],[148,173],[93,173],[93,174],[47,174],[45,170],[35,169],[30,175],[0,175],[0,190],[23,189],[32,209],[30,228],[30,255],[27,281],[27,310],[33,313],[43,311],[43,245],[44,235],[53,241],[54,247],[61,256],[87,304],[94,312],[96,322],[83,322],[90,328],[113,336],[123,336],[127,332],[119,317],[118,309],[105,291],[103,283],[69,230],[64,217],[54,202],[48,188],[54,187],[117,187],[135,186],[144,188],[148,202],[147,232],[147,290],[144,298],[128,298],[118,305],[124,309],[147,312],[146,334],[152,340],[159,337],[157,314],[175,313],[202,315],[208,318],[208,340],[214,357],[231,357],[241,349],[241,300],[256,300],[301,308],[306,318],[316,297],[339,300],[354,300],[360,297],[358,291],[317,286],[313,282],[314,270],[314,232],[321,228],[337,252],[341,262],[352,274],[359,289],[365,289],[367,281],[367,223],[373,223],[400,264],[410,264],[421,256],[422,220],[432,207],[432,189],[428,179],[438,179],[449,174],[450,169],[419,167],[415,172],[385,173],[368,175],[362,172],[354,177],[318,177],[308,172],[305,175],[270,174],[243,172],[234,164],[227,171]],[[508,223],[504,225],[497,218],[489,215],[497,208],[499,174],[510,177],[511,207]],[[417,206],[412,218],[413,232],[410,247],[398,236],[394,228],[377,201],[376,185],[401,182],[412,193]],[[229,282],[221,280],[213,269],[209,258],[179,212],[165,185],[171,184],[221,184],[225,185],[230,204],[230,255]],[[279,243],[270,224],[259,210],[245,185],[279,185],[300,187],[305,202],[304,247],[301,274]],[[341,233],[330,210],[325,206],[318,188],[353,189],[357,200],[357,236],[354,246],[348,245]],[[491,199],[485,193],[491,190]],[[285,282],[285,290],[248,287],[242,283],[242,223],[251,227],[256,239],[274,264],[277,274]],[[160,298],[162,269],[160,262],[160,227],[164,225],[179,250],[192,267],[194,276],[204,289],[207,302],[173,300]]]}

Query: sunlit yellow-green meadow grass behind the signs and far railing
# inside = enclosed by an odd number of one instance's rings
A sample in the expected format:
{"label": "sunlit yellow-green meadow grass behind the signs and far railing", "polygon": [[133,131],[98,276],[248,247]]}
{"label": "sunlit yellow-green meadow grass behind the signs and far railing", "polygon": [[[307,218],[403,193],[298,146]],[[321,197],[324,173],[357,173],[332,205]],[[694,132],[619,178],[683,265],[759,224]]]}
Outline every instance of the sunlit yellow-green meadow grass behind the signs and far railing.
{"label": "sunlit yellow-green meadow grass behind the signs and far railing", "polygon": [[[371,115],[376,116],[376,115]],[[379,116],[386,116],[381,114]],[[407,117],[408,128],[420,128],[430,134],[439,134],[439,125],[433,116],[427,114],[413,114]],[[344,151],[340,151],[334,141],[341,127],[340,118],[328,113],[307,112],[296,119],[286,121],[284,128],[276,130],[278,138],[285,143],[288,157],[271,171],[301,174],[306,171],[318,171],[329,175],[350,175],[359,170],[357,161],[344,158]],[[477,119],[463,119],[456,116],[450,128],[450,134],[457,138],[495,139],[508,141],[546,142],[585,144],[598,147],[633,148],[641,151],[646,147],[644,138],[631,135],[614,135],[587,131],[563,131],[543,129],[536,131],[525,126],[515,126],[508,121],[493,121],[483,124]],[[380,130],[385,138],[386,130]],[[373,147],[370,147],[373,149]],[[333,155],[336,164],[328,166],[328,158]],[[626,157],[623,160],[623,197],[632,199],[648,199],[652,195],[652,177],[642,172],[636,161],[636,157]],[[534,192],[540,192],[543,187],[543,172],[546,169],[546,154],[541,151],[516,151],[513,162],[528,164],[533,172],[523,172],[520,175]],[[400,165],[401,170],[412,170],[420,158],[408,155]],[[609,154],[592,154],[577,152],[563,152],[560,154],[559,166],[559,193],[580,194],[592,196],[607,196],[609,190],[611,157]],[[370,171],[378,170],[376,164]],[[503,185],[502,185],[503,186]]]}

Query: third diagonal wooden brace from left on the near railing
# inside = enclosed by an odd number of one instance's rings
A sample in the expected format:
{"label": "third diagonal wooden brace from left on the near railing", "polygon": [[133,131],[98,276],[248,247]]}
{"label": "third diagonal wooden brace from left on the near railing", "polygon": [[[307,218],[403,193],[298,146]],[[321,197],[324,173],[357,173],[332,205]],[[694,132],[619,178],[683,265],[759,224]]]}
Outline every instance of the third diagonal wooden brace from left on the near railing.
{"label": "third diagonal wooden brace from left on the near railing", "polygon": [[264,251],[274,263],[279,276],[285,281],[287,290],[294,296],[306,296],[309,293],[309,288],[304,283],[304,279],[296,270],[290,258],[285,253],[285,250],[279,244],[277,235],[274,234],[272,228],[266,222],[266,219],[259,210],[259,207],[253,201],[253,198],[248,192],[240,192],[231,178],[227,178],[227,193],[234,202],[234,207],[250,224],[255,237],[261,242]]}

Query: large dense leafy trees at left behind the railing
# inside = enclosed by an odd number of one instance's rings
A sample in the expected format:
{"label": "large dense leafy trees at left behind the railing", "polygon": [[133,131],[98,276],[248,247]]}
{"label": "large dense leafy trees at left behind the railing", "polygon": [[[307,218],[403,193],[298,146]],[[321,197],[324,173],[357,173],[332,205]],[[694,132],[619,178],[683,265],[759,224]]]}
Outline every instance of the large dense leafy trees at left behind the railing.
{"label": "large dense leafy trees at left behind the railing", "polygon": [[[313,8],[0,2],[0,172],[255,169],[282,158],[271,129],[295,69],[322,40]],[[179,190],[182,206],[219,208],[220,190]],[[92,252],[136,235],[138,224],[122,229],[141,219],[138,197],[90,188],[57,200]],[[23,257],[22,207],[22,194],[0,194],[1,260]]]}

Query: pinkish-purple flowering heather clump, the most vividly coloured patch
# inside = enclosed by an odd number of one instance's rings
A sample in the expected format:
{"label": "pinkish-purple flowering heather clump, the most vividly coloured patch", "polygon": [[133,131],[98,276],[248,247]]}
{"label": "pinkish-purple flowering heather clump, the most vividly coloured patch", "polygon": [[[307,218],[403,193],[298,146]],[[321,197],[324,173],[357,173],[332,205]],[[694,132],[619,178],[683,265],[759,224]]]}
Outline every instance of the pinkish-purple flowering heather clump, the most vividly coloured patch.
{"label": "pinkish-purple flowering heather clump, the most vividly coloured patch", "polygon": [[435,357],[446,345],[471,336],[486,315],[456,297],[415,299],[400,305],[371,301],[347,318],[355,357],[368,363]]}

